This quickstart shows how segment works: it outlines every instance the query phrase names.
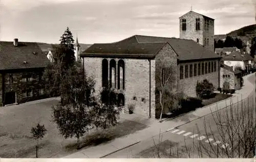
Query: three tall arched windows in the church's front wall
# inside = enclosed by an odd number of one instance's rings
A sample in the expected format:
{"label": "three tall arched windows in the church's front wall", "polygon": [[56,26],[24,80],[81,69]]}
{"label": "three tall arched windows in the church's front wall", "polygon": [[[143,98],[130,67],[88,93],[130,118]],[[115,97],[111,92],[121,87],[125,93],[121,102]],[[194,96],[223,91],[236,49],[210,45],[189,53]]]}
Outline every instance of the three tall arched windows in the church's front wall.
{"label": "three tall arched windows in the church's front wall", "polygon": [[[117,72],[116,72],[117,70]],[[117,83],[116,83],[117,73]],[[110,69],[108,60],[102,60],[102,87],[117,88],[124,90],[124,61],[119,60],[117,63],[114,59],[110,60]]]}

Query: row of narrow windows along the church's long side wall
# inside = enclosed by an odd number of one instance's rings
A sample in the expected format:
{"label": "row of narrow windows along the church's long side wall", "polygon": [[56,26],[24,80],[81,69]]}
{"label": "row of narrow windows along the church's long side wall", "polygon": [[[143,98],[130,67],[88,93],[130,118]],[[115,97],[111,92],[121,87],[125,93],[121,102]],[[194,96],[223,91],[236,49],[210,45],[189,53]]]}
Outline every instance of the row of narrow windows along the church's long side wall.
{"label": "row of narrow windows along the church's long side wall", "polygon": [[193,77],[193,75],[194,76],[204,75],[204,74],[211,73],[211,72],[216,72],[216,62],[214,62],[214,61],[194,64],[194,69],[193,69],[193,64],[190,64],[189,66],[181,65],[180,66],[180,79]]}

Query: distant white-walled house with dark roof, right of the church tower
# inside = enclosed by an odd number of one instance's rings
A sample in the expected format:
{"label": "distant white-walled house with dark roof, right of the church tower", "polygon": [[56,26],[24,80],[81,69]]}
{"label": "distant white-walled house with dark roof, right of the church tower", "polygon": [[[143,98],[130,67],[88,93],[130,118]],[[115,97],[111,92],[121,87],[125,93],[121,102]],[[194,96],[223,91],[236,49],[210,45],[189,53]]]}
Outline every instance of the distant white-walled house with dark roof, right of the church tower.
{"label": "distant white-walled house with dark roof, right of the church tower", "polygon": [[238,51],[231,52],[230,55],[225,55],[222,58],[225,65],[230,66],[233,70],[236,67],[241,67],[242,70],[248,71],[253,68],[253,58],[248,53]]}

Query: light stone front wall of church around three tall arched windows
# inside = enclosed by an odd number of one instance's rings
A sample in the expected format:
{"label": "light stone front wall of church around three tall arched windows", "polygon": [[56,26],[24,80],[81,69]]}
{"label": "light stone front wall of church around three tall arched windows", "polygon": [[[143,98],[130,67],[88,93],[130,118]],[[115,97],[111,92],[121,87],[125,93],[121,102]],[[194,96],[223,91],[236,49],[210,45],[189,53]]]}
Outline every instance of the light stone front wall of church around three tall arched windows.
{"label": "light stone front wall of church around three tall arched windows", "polygon": [[[102,88],[102,60],[110,58],[84,57],[84,69],[89,76],[93,76],[96,93]],[[114,59],[116,63],[119,59]],[[124,61],[124,88],[117,90],[124,95],[124,106],[135,104],[135,114],[149,117],[150,107],[150,62],[151,62],[151,118],[155,118],[155,60],[122,59]],[[116,71],[117,74],[117,71]],[[117,78],[117,77],[116,77]],[[116,80],[117,82],[117,80]]]}

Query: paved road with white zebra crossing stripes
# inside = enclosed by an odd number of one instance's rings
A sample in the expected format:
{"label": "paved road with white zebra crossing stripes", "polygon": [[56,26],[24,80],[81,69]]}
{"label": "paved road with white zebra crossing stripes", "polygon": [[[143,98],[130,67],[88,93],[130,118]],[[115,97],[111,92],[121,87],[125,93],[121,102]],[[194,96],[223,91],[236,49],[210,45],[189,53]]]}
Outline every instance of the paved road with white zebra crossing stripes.
{"label": "paved road with white zebra crossing stripes", "polygon": [[[254,77],[249,78],[249,81],[255,85]],[[178,128],[174,128],[162,134],[162,136],[154,136],[150,139],[141,141],[140,143],[112,153],[104,158],[152,158],[152,157],[226,157],[226,152],[238,153],[238,147],[232,147],[231,144],[237,144],[231,132],[239,125],[243,125],[244,118],[248,118],[248,113],[255,113],[255,91],[250,94],[249,100],[228,106],[219,112],[212,113],[199,118]],[[252,104],[253,106],[247,106]],[[248,107],[248,109],[246,109]],[[242,109],[241,109],[242,108]],[[230,112],[232,110],[234,121],[231,127],[227,124],[227,117],[230,119]],[[218,117],[221,117],[221,122],[218,122]],[[247,119],[246,118],[246,119]],[[252,124],[255,120],[253,119]],[[229,121],[229,123],[232,121]],[[223,124],[223,125],[220,125]],[[250,125],[245,125],[250,127]],[[241,129],[245,129],[241,127]],[[232,138],[233,137],[233,138]],[[234,142],[232,140],[234,139]],[[154,144],[155,143],[155,144]],[[161,143],[160,145],[158,145]],[[172,147],[170,147],[172,146]],[[170,149],[171,148],[171,149]],[[177,149],[178,148],[178,149]],[[144,151],[141,151],[144,150]],[[159,151],[157,151],[159,150]],[[201,151],[198,151],[201,150]],[[211,152],[209,152],[211,151]],[[170,153],[171,152],[171,153]],[[201,153],[199,153],[201,152]],[[158,153],[160,155],[158,155]],[[170,156],[171,155],[171,156]],[[236,155],[234,155],[236,156]]]}

